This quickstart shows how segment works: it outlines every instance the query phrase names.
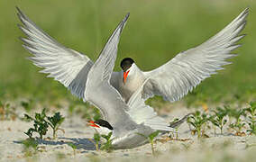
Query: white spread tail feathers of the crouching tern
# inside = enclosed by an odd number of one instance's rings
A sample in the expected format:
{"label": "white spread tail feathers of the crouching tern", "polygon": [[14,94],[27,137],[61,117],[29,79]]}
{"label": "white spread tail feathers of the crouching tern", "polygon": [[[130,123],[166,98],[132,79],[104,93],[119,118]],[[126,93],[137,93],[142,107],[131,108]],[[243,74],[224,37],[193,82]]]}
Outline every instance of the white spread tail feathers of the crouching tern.
{"label": "white spread tail feathers of the crouching tern", "polygon": [[164,130],[164,131],[176,131],[175,129],[169,127],[169,123],[164,121],[157,115],[157,112],[154,109],[145,104],[145,100],[142,99],[142,89],[145,83],[148,80],[145,80],[142,86],[136,90],[132,97],[128,101],[129,106],[129,115],[137,124],[144,124],[151,127],[154,130]]}

